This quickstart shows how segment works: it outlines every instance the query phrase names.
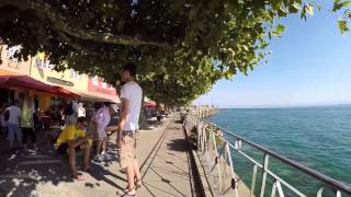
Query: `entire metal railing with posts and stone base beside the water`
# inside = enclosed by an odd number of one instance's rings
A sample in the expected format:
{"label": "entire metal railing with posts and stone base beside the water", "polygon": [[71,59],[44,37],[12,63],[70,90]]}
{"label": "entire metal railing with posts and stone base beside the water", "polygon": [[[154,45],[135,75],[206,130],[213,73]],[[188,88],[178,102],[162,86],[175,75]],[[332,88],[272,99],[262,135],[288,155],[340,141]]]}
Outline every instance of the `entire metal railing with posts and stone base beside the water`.
{"label": "entire metal railing with posts and stone base beside the water", "polygon": [[[202,118],[188,115],[184,120],[184,127],[188,131],[195,130],[196,132],[197,152],[204,161],[206,174],[210,176],[212,187],[214,187],[212,189],[217,193],[215,196],[351,196],[350,186],[278,154],[260,144],[246,140],[240,136],[228,132]],[[227,139],[230,139],[230,141]],[[244,149],[244,146],[251,147],[256,151],[261,152],[260,155],[262,155],[262,159],[251,157],[250,153],[247,152],[250,149]],[[250,184],[244,184],[242,177],[236,174],[234,155],[240,157],[249,163],[248,166],[252,166],[252,169],[249,170],[251,171],[249,177]],[[308,192],[306,192],[306,187],[305,190],[298,189],[290,183],[291,179],[295,177],[290,177],[288,182],[286,177],[283,178],[278,175],[278,172],[273,172],[274,170],[270,167],[270,164],[272,164],[271,160],[280,161],[281,165],[286,165],[292,169],[296,172],[296,177],[299,173],[319,184],[317,184],[313,190],[307,189]],[[246,187],[246,189],[240,189],[240,187]],[[302,187],[304,188],[304,186]]]}

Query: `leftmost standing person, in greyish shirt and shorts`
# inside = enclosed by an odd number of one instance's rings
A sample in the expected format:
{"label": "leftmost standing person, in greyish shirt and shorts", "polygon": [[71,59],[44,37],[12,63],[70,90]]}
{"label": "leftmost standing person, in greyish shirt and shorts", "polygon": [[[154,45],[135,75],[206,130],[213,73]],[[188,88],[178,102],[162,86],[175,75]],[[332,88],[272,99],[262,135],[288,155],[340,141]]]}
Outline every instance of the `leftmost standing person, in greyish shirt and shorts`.
{"label": "leftmost standing person, in greyish shirt and shorts", "polygon": [[22,132],[21,132],[21,104],[19,100],[15,100],[13,105],[9,108],[8,119],[8,140],[10,142],[10,150],[13,150],[14,137],[18,139],[19,144],[22,146]]}

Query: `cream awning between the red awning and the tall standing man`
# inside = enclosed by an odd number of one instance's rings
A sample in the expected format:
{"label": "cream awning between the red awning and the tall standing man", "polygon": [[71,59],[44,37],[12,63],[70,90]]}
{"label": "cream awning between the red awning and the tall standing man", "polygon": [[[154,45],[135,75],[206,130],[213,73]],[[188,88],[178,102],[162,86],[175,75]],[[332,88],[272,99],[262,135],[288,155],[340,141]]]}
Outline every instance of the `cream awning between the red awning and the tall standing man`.
{"label": "cream awning between the red awning and the tall standing man", "polygon": [[68,89],[69,91],[80,95],[81,100],[92,101],[92,102],[112,102],[121,103],[121,100],[117,95],[102,94],[97,92],[86,92],[73,89]]}

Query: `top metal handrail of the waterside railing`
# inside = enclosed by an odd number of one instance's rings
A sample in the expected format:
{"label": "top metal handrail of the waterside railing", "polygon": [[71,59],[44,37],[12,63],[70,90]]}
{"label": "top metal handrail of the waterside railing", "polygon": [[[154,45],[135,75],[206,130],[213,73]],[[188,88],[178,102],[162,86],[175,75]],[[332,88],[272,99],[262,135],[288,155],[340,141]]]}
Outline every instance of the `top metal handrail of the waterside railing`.
{"label": "top metal handrail of the waterside railing", "polygon": [[[207,120],[204,120],[204,119],[202,119],[202,118],[199,118],[199,117],[196,117],[196,116],[194,116],[194,115],[192,115],[192,114],[189,114],[189,115],[191,115],[191,116],[200,119],[200,120],[203,121],[203,123],[206,123],[206,124],[208,124],[208,125],[211,125],[211,126],[213,126],[213,127],[216,127],[216,128],[220,129],[220,130],[224,131],[225,134],[227,134],[227,135],[229,135],[229,136],[233,136],[233,137],[237,138],[238,140],[241,140],[241,141],[244,141],[244,142],[246,142],[246,143],[248,143],[248,144],[250,144],[250,146],[252,146],[252,147],[261,150],[262,152],[264,152],[264,153],[267,153],[267,154],[272,155],[273,158],[280,160],[281,162],[283,162],[283,163],[285,163],[285,164],[287,164],[287,165],[291,165],[291,166],[293,166],[293,167],[298,169],[299,171],[302,171],[302,172],[304,172],[304,173],[306,173],[306,174],[308,174],[308,175],[310,175],[310,176],[313,176],[313,177],[315,177],[315,178],[324,182],[325,184],[329,185],[330,187],[332,187],[332,188],[335,188],[335,189],[340,189],[341,192],[351,195],[351,187],[350,187],[350,186],[348,186],[348,185],[346,185],[346,184],[343,184],[343,183],[341,183],[341,182],[339,182],[339,181],[337,181],[337,179],[335,179],[335,178],[332,178],[332,177],[329,177],[329,176],[327,176],[327,175],[324,175],[324,174],[321,174],[321,173],[319,173],[319,172],[317,172],[317,171],[315,171],[315,170],[313,170],[313,169],[309,169],[309,167],[307,167],[307,166],[305,166],[305,165],[303,165],[303,164],[299,164],[299,163],[297,163],[297,162],[295,162],[295,161],[293,161],[293,160],[291,160],[291,159],[287,159],[287,158],[279,154],[279,153],[276,153],[276,152],[274,152],[274,151],[272,151],[272,150],[269,150],[269,149],[267,149],[267,148],[264,148],[264,147],[262,147],[262,146],[260,146],[260,144],[258,144],[258,143],[254,143],[254,142],[252,142],[252,141],[250,141],[250,140],[247,140],[247,139],[245,139],[245,138],[241,137],[241,136],[238,136],[238,135],[236,135],[236,134],[229,132],[229,131],[227,131],[226,129],[224,129],[224,128],[222,128],[222,127],[219,127],[219,126],[217,126],[217,125],[215,125],[215,124],[213,124],[213,123],[210,123],[210,121],[207,121]],[[230,143],[230,142],[229,142],[229,143]]]}

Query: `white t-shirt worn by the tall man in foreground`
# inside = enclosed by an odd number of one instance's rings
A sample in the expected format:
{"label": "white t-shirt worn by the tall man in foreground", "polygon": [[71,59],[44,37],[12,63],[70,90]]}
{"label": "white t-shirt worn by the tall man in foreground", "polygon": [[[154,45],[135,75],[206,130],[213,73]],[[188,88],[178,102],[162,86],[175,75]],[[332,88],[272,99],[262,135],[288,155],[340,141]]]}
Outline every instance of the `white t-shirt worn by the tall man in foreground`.
{"label": "white t-shirt worn by the tall man in foreground", "polygon": [[143,100],[143,90],[135,81],[125,83],[121,89],[121,99],[129,101],[126,121],[123,130],[139,129],[139,115]]}

